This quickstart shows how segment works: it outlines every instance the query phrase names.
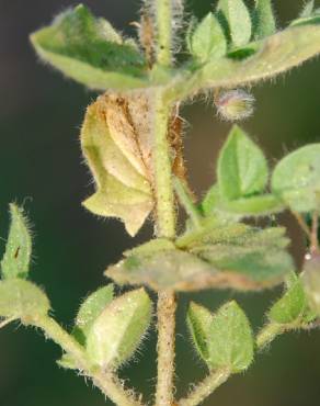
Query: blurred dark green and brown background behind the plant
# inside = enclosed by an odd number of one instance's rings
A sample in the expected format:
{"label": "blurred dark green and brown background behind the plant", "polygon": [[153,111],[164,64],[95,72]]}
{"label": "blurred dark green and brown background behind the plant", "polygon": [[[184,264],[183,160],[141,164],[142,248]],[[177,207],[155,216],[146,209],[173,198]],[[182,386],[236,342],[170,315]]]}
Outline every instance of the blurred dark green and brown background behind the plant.
{"label": "blurred dark green and brown background behind the plant", "polygon": [[[138,0],[88,0],[98,15],[130,34]],[[210,1],[187,4],[198,16]],[[27,36],[53,15],[76,4],[70,0],[0,0],[0,236],[1,251],[8,229],[8,203],[23,204],[34,224],[32,278],[45,287],[55,316],[66,327],[89,291],[106,281],[103,270],[124,249],[150,236],[146,226],[129,239],[121,223],[102,221],[80,203],[93,189],[80,155],[79,127],[85,106],[95,94],[42,66]],[[302,1],[274,0],[279,26],[285,26]],[[320,5],[317,4],[318,7]],[[256,112],[243,126],[263,146],[271,165],[301,144],[320,140],[320,60],[252,89]],[[229,124],[219,122],[206,101],[183,109],[190,179],[198,193],[214,180],[217,151]],[[319,174],[320,176],[320,174]],[[284,216],[294,238],[292,250],[301,262],[302,236],[293,218]],[[236,297],[255,328],[279,291],[244,295],[208,291],[181,295],[178,323],[176,386],[187,385],[205,370],[190,346],[184,326],[187,301],[210,308]],[[122,370],[146,395],[155,387],[155,330],[136,360]],[[0,406],[102,406],[104,397],[90,382],[55,364],[60,354],[39,331],[12,325],[0,331]],[[244,375],[235,376],[205,405],[316,406],[320,398],[320,332],[293,334],[277,339],[271,351],[256,357]]]}

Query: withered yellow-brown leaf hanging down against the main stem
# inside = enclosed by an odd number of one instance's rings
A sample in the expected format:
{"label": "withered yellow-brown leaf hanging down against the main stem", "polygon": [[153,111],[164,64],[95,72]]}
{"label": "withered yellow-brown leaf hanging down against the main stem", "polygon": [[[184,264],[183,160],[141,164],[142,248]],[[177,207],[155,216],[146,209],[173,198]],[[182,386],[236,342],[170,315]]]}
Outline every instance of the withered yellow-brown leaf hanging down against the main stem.
{"label": "withered yellow-brown leaf hanging down against the main stem", "polygon": [[106,94],[88,108],[81,131],[82,151],[96,184],[83,205],[121,218],[132,236],[153,207],[147,109],[142,95]]}

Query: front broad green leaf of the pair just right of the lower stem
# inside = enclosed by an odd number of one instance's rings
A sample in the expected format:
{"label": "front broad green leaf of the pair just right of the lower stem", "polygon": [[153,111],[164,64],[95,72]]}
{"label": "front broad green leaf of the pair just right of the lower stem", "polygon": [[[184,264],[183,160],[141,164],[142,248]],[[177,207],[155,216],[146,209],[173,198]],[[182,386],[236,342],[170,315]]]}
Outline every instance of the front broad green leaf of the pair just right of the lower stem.
{"label": "front broad green leaf of the pair just right of the lower stem", "polygon": [[238,373],[253,361],[253,338],[249,320],[232,301],[214,315],[208,339],[212,369],[229,369]]}

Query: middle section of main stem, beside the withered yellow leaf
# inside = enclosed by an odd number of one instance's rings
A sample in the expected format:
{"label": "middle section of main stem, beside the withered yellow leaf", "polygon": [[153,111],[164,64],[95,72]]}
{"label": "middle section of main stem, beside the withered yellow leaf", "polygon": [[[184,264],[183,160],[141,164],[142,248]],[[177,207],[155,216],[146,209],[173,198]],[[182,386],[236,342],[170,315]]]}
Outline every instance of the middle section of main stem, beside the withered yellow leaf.
{"label": "middle section of main stem, beside the withered yellow leaf", "polygon": [[170,106],[165,105],[161,92],[155,94],[153,117],[153,177],[157,202],[157,236],[174,238],[175,210],[172,187],[172,162],[168,142]]}

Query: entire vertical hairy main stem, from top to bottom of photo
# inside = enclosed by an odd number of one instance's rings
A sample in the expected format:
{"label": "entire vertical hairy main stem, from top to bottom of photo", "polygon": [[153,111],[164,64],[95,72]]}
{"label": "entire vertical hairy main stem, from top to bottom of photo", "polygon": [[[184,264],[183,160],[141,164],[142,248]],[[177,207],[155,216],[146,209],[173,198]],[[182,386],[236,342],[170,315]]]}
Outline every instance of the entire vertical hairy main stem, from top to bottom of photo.
{"label": "entire vertical hairy main stem, from top to bottom of photo", "polygon": [[[170,67],[172,61],[172,0],[155,0],[156,49],[158,65]],[[172,184],[171,151],[168,140],[172,105],[163,98],[162,90],[153,94],[153,177],[157,204],[156,234],[175,237],[175,207]],[[158,293],[158,382],[157,406],[172,406],[174,392],[175,295],[173,291]]]}

